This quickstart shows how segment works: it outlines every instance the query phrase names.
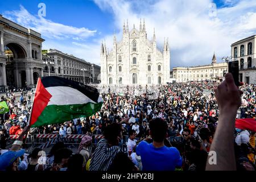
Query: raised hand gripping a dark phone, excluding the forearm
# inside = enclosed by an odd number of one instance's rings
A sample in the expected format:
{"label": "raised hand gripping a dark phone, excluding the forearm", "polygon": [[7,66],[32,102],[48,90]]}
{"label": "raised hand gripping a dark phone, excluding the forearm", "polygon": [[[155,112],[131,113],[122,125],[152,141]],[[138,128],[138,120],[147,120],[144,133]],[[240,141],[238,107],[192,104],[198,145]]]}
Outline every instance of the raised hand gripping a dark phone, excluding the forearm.
{"label": "raised hand gripping a dark phone, excluding the forearm", "polygon": [[238,109],[241,105],[242,91],[237,88],[231,73],[226,73],[225,80],[214,90],[220,111]]}

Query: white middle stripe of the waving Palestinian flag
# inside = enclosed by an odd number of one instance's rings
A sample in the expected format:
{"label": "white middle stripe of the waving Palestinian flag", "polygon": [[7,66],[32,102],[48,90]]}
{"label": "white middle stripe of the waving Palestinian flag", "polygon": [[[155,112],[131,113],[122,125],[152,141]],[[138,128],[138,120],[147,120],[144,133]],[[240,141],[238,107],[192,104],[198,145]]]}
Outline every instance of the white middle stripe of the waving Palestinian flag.
{"label": "white middle stripe of the waving Palestinian flag", "polygon": [[96,104],[96,102],[79,92],[79,90],[68,86],[52,86],[47,87],[46,90],[52,95],[48,105],[74,105],[86,104],[88,102]]}

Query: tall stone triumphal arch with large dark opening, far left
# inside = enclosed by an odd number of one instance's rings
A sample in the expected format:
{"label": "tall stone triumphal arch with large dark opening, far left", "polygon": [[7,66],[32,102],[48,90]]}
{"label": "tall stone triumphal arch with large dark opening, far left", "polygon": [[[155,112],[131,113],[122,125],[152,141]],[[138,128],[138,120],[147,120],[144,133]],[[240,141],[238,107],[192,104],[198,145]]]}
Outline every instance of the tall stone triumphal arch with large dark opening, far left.
{"label": "tall stone triumphal arch with large dark opening, far left", "polygon": [[41,34],[0,15],[0,86],[34,88],[43,76]]}

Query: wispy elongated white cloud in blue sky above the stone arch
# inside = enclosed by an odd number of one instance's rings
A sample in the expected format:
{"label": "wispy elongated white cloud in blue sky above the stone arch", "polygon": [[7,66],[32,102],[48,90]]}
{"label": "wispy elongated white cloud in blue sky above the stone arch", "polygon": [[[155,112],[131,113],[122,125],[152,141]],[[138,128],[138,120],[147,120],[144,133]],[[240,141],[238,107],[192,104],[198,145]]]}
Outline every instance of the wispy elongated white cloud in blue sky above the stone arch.
{"label": "wispy elongated white cloud in blue sky above the stone arch", "polygon": [[84,40],[90,36],[94,36],[97,32],[96,30],[89,30],[85,27],[77,28],[55,23],[38,15],[32,15],[21,5],[20,10],[5,11],[3,15],[24,27],[29,27],[40,32],[40,34],[50,39],[72,38],[75,40]]}

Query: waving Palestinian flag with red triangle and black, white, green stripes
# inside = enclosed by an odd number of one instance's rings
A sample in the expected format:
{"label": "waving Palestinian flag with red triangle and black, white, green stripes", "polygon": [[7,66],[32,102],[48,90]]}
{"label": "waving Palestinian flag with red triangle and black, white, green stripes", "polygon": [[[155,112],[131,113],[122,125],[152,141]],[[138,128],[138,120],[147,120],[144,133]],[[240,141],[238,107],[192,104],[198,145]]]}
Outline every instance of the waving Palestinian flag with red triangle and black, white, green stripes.
{"label": "waving Palestinian flag with red triangle and black, white, green stripes", "polygon": [[30,126],[63,123],[81,115],[89,117],[102,104],[96,88],[57,76],[38,78]]}

